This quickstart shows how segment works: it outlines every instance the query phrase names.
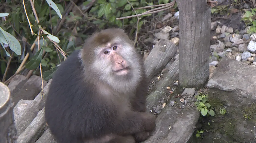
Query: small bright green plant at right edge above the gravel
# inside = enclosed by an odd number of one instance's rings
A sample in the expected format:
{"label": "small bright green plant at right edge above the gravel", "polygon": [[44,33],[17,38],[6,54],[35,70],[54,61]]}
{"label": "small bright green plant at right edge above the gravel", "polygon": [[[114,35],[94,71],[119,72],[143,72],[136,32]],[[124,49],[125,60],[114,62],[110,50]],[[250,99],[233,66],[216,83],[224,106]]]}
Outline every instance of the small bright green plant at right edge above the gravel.
{"label": "small bright green plant at right edge above the gravel", "polygon": [[245,11],[244,15],[242,16],[242,19],[246,25],[251,25],[248,27],[247,33],[255,33],[256,32],[256,20],[255,20],[255,14],[256,14],[256,8],[251,8],[251,11]]}

